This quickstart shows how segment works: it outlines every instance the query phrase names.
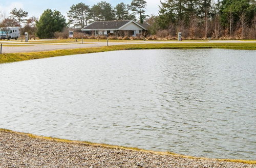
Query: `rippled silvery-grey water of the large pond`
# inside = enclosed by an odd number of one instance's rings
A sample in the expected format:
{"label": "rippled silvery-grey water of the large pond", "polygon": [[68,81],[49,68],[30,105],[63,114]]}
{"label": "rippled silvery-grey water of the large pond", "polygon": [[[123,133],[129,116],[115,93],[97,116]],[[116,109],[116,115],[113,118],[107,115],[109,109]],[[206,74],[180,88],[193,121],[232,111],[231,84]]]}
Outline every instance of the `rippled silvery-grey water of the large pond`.
{"label": "rippled silvery-grey water of the large pond", "polygon": [[0,128],[256,159],[256,52],[129,50],[0,64]]}

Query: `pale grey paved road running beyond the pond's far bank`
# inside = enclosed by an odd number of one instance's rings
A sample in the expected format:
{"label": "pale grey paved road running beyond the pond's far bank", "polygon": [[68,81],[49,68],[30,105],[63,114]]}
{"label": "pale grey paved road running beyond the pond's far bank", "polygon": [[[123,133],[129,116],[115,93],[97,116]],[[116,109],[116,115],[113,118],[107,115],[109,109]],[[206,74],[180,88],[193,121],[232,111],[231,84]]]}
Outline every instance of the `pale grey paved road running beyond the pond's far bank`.
{"label": "pale grey paved road running beyond the pond's far bank", "polygon": [[[0,41],[1,42],[1,41]],[[20,45],[21,43],[18,41],[2,41],[3,44],[8,45]],[[15,44],[14,44],[15,42]],[[39,44],[39,43],[42,44]],[[239,41],[239,40],[230,40],[230,41],[196,41],[196,42],[188,42],[188,41],[127,41],[127,42],[109,42],[109,45],[123,45],[123,44],[157,44],[157,43],[255,43],[255,41]],[[35,52],[35,51],[50,51],[57,49],[73,49],[73,48],[87,48],[87,47],[101,47],[105,46],[106,42],[87,42],[84,44],[79,43],[44,43],[43,41],[38,41],[38,43],[33,44],[24,44],[24,46],[3,46],[3,53],[15,53],[15,52]],[[29,46],[26,46],[29,45]],[[31,46],[33,45],[33,46]]]}

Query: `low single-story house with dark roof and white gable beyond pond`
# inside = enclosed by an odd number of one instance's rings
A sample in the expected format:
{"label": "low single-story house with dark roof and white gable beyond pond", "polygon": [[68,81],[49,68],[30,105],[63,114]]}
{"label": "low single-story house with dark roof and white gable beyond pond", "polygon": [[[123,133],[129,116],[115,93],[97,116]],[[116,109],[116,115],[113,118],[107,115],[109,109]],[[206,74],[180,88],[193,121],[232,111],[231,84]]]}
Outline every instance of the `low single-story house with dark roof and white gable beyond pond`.
{"label": "low single-story house with dark roof and white gable beyond pond", "polygon": [[82,29],[82,32],[95,35],[132,35],[140,36],[150,25],[133,20],[95,21]]}

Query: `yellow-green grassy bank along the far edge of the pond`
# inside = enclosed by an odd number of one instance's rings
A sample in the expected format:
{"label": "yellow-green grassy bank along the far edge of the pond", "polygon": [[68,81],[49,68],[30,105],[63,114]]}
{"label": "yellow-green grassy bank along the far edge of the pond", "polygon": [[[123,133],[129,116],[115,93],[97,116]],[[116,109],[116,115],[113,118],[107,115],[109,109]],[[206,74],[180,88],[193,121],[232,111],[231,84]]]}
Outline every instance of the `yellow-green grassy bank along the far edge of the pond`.
{"label": "yellow-green grassy bank along the far edge of the pond", "polygon": [[26,53],[4,53],[0,54],[0,64],[17,61],[57,57],[63,55],[105,52],[129,49],[196,49],[196,48],[226,48],[256,50],[256,43],[164,43],[164,44],[130,44],[114,45],[93,48],[61,49],[54,51],[26,52]]}

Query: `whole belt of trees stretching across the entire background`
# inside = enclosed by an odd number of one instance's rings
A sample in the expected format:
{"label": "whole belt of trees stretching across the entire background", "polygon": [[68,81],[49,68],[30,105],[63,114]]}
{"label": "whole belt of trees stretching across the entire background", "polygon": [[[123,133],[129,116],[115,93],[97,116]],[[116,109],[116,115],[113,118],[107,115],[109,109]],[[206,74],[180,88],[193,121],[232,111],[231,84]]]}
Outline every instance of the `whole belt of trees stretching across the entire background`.
{"label": "whole belt of trees stretching across the entire background", "polygon": [[[151,39],[256,39],[256,6],[254,0],[161,0],[157,16],[146,15],[145,0],[133,0],[113,7],[104,1],[93,6],[79,3],[70,7],[68,20],[59,12],[46,10],[40,18],[13,9],[11,16],[0,18],[0,27],[24,25],[31,34],[49,32],[47,38],[65,27],[81,29],[93,21],[135,20],[150,24]],[[52,26],[51,25],[52,20]],[[46,29],[51,28],[51,30]]]}

